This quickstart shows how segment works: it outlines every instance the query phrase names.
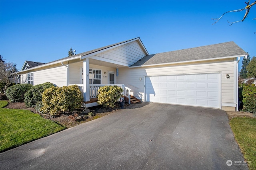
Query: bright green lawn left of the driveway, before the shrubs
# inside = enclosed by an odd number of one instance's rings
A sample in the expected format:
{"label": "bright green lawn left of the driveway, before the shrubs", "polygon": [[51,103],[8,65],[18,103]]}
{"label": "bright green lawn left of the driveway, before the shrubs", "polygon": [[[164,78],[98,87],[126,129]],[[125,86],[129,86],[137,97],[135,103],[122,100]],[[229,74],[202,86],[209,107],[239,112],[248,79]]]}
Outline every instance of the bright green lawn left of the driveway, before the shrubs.
{"label": "bright green lawn left of the driveway, before the shrubs", "polygon": [[0,101],[0,152],[66,129],[28,110],[5,109]]}

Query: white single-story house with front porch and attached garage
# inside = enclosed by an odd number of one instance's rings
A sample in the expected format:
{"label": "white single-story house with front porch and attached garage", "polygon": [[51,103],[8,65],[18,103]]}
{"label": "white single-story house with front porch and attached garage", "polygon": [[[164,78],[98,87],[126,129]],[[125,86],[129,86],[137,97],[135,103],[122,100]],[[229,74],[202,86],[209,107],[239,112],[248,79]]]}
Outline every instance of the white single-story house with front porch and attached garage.
{"label": "white single-story house with front porch and attached garage", "polygon": [[100,86],[117,84],[124,88],[124,96],[131,94],[142,102],[234,111],[238,104],[238,61],[246,55],[234,42],[150,55],[138,37],[18,74],[32,74],[34,85],[77,84],[87,107],[97,105],[93,99]]}

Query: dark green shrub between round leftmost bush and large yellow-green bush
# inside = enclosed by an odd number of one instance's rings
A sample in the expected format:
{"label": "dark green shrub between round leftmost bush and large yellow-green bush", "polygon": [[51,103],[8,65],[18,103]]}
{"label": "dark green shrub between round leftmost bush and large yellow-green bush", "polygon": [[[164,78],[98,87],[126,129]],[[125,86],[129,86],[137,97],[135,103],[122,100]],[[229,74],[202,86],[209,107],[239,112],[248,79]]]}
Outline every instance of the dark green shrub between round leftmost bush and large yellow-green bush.
{"label": "dark green shrub between round leftmost bush and large yellow-green bush", "polygon": [[27,107],[35,107],[36,102],[42,101],[42,93],[47,88],[54,86],[54,84],[50,82],[46,82],[43,84],[38,84],[33,86],[24,94],[24,102]]}

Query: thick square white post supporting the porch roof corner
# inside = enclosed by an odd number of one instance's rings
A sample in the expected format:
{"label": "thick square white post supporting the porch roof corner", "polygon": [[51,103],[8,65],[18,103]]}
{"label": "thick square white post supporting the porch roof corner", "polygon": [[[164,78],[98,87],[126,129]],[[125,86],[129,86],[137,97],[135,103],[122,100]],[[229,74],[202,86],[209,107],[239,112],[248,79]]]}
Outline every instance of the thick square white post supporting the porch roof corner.
{"label": "thick square white post supporting the porch roof corner", "polygon": [[90,101],[90,86],[89,86],[89,59],[86,58],[83,63],[84,67],[84,102]]}

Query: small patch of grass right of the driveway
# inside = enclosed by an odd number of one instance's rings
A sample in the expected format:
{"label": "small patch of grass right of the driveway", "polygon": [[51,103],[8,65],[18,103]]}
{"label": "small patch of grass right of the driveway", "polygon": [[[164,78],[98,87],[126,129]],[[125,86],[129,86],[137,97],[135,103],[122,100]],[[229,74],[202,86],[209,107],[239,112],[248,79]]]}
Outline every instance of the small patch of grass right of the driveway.
{"label": "small patch of grass right of the driveway", "polygon": [[230,127],[244,154],[244,158],[251,161],[248,164],[249,169],[256,170],[256,119],[234,117],[230,120]]}

